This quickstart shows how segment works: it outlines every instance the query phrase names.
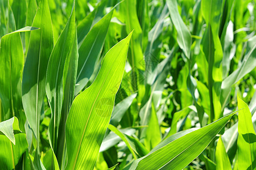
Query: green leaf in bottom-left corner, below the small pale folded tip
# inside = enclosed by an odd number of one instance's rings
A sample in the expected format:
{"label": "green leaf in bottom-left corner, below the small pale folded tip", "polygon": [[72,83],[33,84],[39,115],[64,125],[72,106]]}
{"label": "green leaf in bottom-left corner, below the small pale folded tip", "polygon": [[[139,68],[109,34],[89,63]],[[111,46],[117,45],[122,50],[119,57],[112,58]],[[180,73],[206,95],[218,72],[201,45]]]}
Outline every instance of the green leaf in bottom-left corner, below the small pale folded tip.
{"label": "green leaf in bottom-left corner, below the small pale folded tip", "polygon": [[16,145],[11,143],[5,135],[0,135],[0,169],[15,169],[24,151],[27,150],[26,134],[19,133],[14,137]]}

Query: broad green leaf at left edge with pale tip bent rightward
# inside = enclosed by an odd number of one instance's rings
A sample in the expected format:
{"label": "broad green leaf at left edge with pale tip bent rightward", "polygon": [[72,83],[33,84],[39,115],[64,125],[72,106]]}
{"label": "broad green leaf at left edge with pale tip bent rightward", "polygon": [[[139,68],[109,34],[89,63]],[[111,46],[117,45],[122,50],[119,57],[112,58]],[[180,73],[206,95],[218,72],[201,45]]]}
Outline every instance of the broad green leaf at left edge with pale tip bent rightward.
{"label": "broad green leaf at left edge with pale tip bent rightward", "polygon": [[38,29],[25,27],[11,32],[1,39],[0,48],[0,99],[3,116],[1,120],[8,120],[16,116],[20,121],[20,129],[24,130],[26,116],[24,115],[21,99],[21,80],[24,65],[22,41],[19,32]]}

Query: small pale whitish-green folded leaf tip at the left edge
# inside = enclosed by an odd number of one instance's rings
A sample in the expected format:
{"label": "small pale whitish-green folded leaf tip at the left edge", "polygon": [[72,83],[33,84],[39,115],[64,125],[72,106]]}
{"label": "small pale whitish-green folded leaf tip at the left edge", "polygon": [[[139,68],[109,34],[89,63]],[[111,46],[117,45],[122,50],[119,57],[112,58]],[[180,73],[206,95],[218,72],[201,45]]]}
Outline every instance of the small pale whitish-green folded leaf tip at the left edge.
{"label": "small pale whitish-green folded leaf tip at the left edge", "polygon": [[12,117],[9,120],[0,122],[0,131],[15,145],[14,130],[20,131],[18,118]]}

